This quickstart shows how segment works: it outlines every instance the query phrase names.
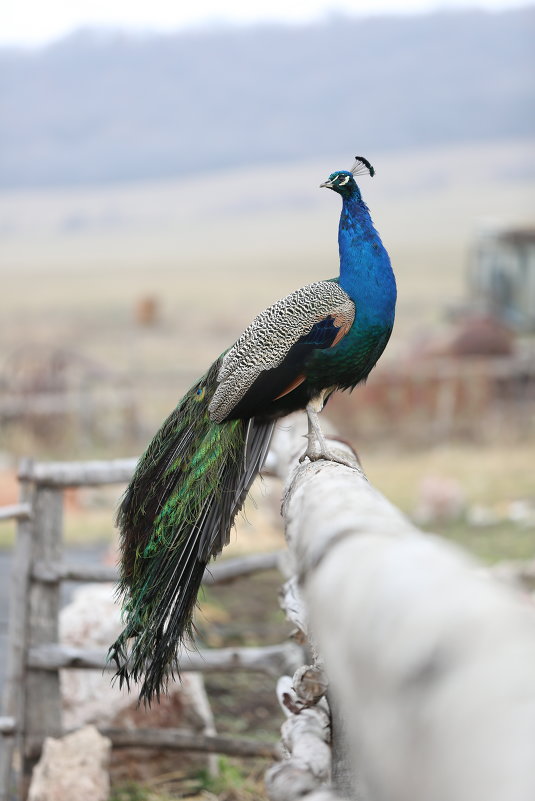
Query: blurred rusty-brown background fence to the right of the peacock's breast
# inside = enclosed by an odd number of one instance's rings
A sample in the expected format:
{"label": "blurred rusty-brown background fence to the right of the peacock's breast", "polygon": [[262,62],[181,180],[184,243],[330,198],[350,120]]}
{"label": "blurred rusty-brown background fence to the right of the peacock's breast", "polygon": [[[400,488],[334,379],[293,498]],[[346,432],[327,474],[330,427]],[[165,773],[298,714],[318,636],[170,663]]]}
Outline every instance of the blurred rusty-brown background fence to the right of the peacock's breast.
{"label": "blurred rusty-brown background fence to the right of the peacock's breast", "polygon": [[359,393],[358,415],[347,393],[336,394],[329,404],[352,441],[388,439],[434,446],[459,438],[531,440],[535,354],[380,363]]}

